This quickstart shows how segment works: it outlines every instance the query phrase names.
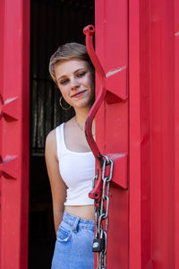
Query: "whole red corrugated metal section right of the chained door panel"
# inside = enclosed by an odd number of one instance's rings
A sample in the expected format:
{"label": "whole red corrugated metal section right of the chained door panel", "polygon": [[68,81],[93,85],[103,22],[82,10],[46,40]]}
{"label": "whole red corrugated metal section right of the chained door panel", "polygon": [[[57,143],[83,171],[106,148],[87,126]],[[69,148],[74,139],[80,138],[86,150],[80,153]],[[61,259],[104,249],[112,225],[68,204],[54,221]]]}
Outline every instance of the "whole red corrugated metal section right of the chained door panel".
{"label": "whole red corrugated metal section right of the chained door panel", "polygon": [[130,269],[179,265],[178,12],[129,1]]}

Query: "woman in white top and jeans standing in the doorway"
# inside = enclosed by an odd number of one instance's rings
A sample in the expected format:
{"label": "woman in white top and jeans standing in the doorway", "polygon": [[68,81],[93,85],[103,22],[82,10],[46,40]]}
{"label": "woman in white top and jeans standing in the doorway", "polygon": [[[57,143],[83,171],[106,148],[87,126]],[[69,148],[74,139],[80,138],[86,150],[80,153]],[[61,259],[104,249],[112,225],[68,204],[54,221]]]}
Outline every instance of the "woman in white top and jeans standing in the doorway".
{"label": "woman in white top and jeans standing in the doorway", "polygon": [[[46,162],[56,231],[53,269],[93,269],[95,159],[84,134],[94,102],[94,69],[84,45],[67,43],[50,59],[50,74],[75,116],[47,135]],[[61,99],[60,104],[64,107]],[[93,124],[93,135],[94,124]]]}

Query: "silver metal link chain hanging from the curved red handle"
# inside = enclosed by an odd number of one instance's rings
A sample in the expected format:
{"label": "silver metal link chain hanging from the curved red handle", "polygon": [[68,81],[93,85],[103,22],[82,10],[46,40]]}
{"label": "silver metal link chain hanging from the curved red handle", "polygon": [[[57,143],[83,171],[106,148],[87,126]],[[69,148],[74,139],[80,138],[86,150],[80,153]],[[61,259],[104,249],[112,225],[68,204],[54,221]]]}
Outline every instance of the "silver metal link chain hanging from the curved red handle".
{"label": "silver metal link chain hanging from the curved red handle", "polygon": [[[103,168],[102,168],[102,195],[99,203],[95,206],[95,223],[96,223],[96,239],[102,239],[102,251],[98,252],[98,267],[97,269],[107,268],[107,230],[108,230],[108,211],[109,211],[109,187],[110,181],[113,176],[113,166],[114,162],[110,160],[106,155],[101,155],[104,158]],[[107,176],[107,167],[110,166],[109,175]],[[95,187],[95,181],[98,180],[98,170],[97,175],[93,180],[93,187]],[[106,209],[104,207],[106,205]]]}

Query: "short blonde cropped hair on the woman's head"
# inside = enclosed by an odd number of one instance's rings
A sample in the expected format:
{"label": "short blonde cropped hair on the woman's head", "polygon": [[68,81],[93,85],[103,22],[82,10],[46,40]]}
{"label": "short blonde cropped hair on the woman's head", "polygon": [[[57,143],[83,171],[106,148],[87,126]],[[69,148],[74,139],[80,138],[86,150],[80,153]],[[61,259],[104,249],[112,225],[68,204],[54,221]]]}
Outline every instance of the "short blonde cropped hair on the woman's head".
{"label": "short blonde cropped hair on the woman's head", "polygon": [[70,60],[74,58],[88,62],[92,67],[92,70],[94,70],[94,66],[90,61],[90,56],[84,45],[75,42],[66,43],[61,45],[50,58],[49,72],[55,83],[57,83],[55,80],[55,65],[61,60]]}

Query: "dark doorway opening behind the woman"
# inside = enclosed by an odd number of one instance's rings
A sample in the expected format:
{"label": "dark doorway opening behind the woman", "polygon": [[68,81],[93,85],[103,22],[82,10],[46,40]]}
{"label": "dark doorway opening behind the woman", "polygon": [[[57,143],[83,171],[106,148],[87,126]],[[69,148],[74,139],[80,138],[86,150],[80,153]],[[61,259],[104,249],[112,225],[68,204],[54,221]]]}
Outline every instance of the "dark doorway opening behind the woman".
{"label": "dark doorway opening behind the woman", "polygon": [[94,0],[30,1],[30,222],[29,269],[49,269],[55,244],[50,185],[44,158],[50,130],[72,117],[59,106],[60,92],[48,74],[60,44],[85,42],[94,24]]}

